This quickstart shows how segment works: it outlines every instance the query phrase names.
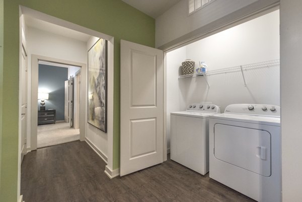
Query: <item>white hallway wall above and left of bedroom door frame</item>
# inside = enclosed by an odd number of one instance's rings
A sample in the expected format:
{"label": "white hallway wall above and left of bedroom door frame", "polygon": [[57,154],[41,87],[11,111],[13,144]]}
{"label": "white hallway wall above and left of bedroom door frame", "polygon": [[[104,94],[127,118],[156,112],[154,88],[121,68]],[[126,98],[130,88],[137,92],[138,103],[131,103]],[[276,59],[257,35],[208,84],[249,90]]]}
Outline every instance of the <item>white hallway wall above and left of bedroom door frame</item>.
{"label": "white hallway wall above and left of bedroom door frame", "polygon": [[[27,49],[28,49],[28,95],[31,95],[31,56],[32,54],[64,59],[69,61],[81,62],[87,64],[86,43],[44,32],[35,28],[27,28]],[[28,103],[31,103],[31,97],[28,96]],[[28,111],[31,111],[28,105]],[[31,120],[28,113],[28,120]],[[30,121],[27,126],[27,147],[30,148]]]}

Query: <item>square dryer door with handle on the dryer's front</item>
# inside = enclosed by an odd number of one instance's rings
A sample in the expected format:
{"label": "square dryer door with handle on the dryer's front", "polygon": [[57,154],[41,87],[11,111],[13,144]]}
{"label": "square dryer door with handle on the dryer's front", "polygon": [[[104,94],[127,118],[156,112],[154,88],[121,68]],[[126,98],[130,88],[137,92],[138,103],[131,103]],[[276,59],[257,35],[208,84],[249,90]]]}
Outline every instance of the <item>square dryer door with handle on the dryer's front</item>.
{"label": "square dryer door with handle on the dryer's front", "polygon": [[269,177],[271,175],[271,134],[266,130],[215,124],[215,158]]}

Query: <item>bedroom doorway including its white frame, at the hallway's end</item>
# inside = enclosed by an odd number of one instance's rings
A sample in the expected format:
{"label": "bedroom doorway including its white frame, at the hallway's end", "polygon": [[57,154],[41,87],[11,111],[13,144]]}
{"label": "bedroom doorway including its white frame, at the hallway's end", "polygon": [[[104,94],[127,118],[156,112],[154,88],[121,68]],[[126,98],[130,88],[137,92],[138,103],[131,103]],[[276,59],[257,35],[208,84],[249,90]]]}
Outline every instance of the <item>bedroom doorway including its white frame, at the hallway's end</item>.
{"label": "bedroom doorway including its white frame, at the hallway's end", "polygon": [[[81,81],[85,80],[85,77],[79,77],[78,75],[86,74],[86,64],[40,55],[32,55],[32,58],[32,150],[76,140],[84,140],[85,116],[81,116],[80,114],[85,114],[85,86],[74,84],[74,88],[72,88],[72,86],[70,87],[71,91],[74,89],[74,93],[68,92],[68,102],[70,101],[70,103],[73,103],[75,97],[79,98],[77,102],[74,102],[73,107],[73,114],[77,114],[79,117],[78,127],[75,128],[73,124],[70,124],[71,118],[68,118],[68,121],[65,121],[64,118],[64,83],[68,80],[70,84],[72,83],[72,80],[74,80],[73,83],[75,83],[75,77],[78,77],[78,83],[79,81],[80,83],[85,83],[86,81]],[[43,72],[45,72],[46,76],[42,75]],[[51,82],[52,85],[49,85]],[[75,89],[78,89],[78,93],[75,92]],[[41,95],[45,94],[47,95],[44,98],[41,97]],[[74,95],[73,99],[71,99],[73,97],[72,94]],[[43,102],[42,98],[44,99]],[[81,101],[81,98],[84,100]],[[38,107],[33,107],[37,106],[37,102],[35,100],[38,100]],[[61,100],[60,106],[56,104],[59,100]],[[68,105],[68,110],[68,113],[70,113],[69,117],[71,117],[71,105]],[[37,122],[35,120],[37,120]]]}

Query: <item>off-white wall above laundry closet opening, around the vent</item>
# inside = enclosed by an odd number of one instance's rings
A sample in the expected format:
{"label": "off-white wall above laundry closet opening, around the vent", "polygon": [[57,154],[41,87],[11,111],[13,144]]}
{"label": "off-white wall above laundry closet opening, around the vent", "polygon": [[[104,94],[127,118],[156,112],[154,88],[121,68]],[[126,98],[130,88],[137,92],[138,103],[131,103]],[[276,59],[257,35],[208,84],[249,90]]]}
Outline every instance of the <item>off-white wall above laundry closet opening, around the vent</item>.
{"label": "off-white wall above laundry closet opening, around the vent", "polygon": [[[276,2],[278,1],[216,0],[198,12],[188,16],[187,0],[181,0],[178,4],[156,19],[156,47],[163,46],[180,38],[181,39],[177,40],[177,42],[194,37],[196,34],[206,33],[217,27],[224,26],[234,21],[234,19],[240,19]],[[241,11],[235,13],[239,10]],[[232,17],[228,16],[230,14],[232,14]],[[207,26],[216,20],[219,20],[219,22]],[[198,30],[201,27],[203,29]],[[196,30],[198,31],[195,32]]]}

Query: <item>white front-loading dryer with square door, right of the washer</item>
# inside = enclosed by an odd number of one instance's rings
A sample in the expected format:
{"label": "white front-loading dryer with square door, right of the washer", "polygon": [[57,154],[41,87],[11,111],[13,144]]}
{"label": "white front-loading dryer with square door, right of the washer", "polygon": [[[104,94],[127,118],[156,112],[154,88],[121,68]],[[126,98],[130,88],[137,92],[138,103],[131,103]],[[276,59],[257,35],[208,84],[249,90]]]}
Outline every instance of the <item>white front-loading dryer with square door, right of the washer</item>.
{"label": "white front-loading dryer with square door, right of the washer", "polygon": [[257,201],[281,201],[280,107],[233,104],[209,118],[210,178]]}

